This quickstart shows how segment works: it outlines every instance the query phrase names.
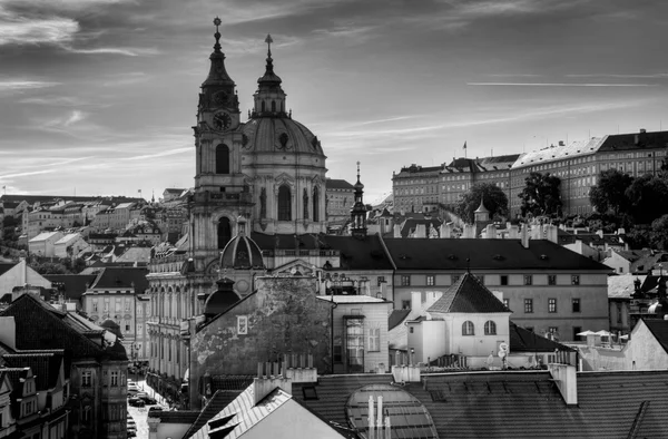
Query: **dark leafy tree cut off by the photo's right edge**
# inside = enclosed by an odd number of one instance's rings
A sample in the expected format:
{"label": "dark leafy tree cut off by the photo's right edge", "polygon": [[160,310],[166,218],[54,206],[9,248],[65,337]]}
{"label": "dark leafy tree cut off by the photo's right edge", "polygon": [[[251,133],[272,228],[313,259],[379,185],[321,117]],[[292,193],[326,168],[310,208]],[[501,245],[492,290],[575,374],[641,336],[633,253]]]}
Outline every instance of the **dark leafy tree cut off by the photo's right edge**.
{"label": "dark leafy tree cut off by the photo's right edge", "polygon": [[668,213],[668,185],[651,174],[636,178],[626,196],[638,224],[649,224]]}

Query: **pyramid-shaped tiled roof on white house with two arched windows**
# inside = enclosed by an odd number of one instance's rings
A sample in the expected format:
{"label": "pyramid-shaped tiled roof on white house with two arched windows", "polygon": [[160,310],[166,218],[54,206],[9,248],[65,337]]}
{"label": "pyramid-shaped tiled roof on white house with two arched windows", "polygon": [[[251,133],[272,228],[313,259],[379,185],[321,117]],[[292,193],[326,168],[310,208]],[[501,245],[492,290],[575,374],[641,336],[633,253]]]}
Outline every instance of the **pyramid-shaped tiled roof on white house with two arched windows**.
{"label": "pyramid-shaped tiled roof on white house with two arched windows", "polygon": [[471,273],[464,273],[426,311],[444,313],[511,312]]}

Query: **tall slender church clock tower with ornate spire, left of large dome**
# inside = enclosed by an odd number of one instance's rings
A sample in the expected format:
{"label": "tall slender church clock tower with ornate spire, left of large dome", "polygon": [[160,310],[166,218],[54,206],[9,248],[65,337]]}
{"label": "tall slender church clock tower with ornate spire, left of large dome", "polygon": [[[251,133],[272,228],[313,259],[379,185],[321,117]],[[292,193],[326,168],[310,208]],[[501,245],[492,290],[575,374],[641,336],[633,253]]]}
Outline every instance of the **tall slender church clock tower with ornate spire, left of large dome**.
{"label": "tall slender church clock tower with ornate spire, left of large dome", "polygon": [[195,191],[189,201],[190,250],[195,271],[210,272],[220,251],[237,234],[236,218],[253,206],[242,174],[239,101],[220,50],[220,19],[210,69],[202,84],[195,131]]}

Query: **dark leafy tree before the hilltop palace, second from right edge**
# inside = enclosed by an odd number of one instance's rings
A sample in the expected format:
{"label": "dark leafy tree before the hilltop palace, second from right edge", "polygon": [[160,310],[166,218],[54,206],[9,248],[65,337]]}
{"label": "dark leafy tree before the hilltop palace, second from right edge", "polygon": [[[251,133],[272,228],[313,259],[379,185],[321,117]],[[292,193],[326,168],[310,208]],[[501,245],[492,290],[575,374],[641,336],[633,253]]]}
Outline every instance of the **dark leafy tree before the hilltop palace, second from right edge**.
{"label": "dark leafy tree before the hilltop palace, second from right edge", "polygon": [[589,192],[589,201],[601,214],[611,211],[615,215],[629,212],[630,203],[626,191],[633,184],[633,177],[612,168],[602,170],[599,183]]}

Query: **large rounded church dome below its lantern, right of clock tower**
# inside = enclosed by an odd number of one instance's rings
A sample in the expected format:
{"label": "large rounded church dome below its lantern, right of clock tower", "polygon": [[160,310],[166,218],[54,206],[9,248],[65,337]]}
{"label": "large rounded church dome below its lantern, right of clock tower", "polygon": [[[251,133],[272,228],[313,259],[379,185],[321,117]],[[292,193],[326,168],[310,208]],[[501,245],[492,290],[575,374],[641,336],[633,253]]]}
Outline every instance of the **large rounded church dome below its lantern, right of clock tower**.
{"label": "large rounded church dome below its lantern, right of clock tower", "polygon": [[244,149],[249,153],[299,153],[324,156],[317,137],[287,117],[256,117],[244,124]]}

